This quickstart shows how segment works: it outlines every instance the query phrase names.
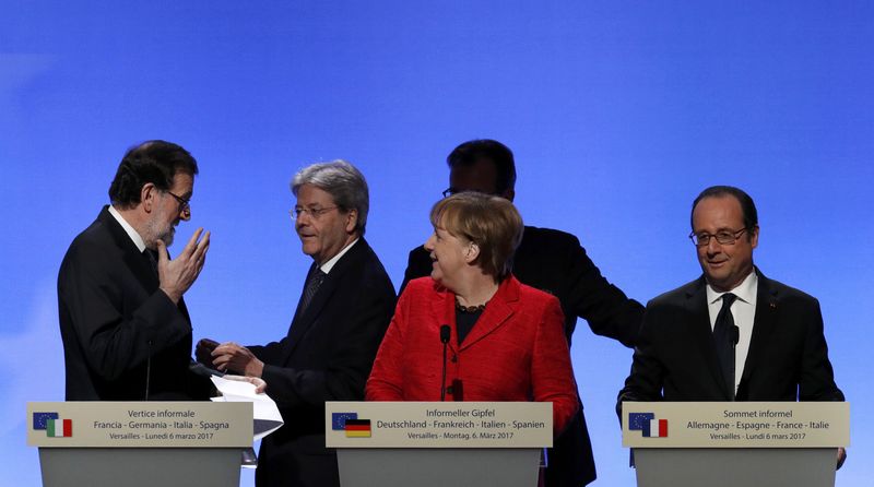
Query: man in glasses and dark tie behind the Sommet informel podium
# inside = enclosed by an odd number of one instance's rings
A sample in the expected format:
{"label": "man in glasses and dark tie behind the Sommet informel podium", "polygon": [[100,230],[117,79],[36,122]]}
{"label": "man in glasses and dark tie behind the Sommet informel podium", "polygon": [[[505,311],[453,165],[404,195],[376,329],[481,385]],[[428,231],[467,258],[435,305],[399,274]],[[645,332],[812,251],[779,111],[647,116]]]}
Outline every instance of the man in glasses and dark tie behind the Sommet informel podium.
{"label": "man in glasses and dark tie behind the Sommet informel podium", "polygon": [[[741,189],[695,199],[704,275],[647,305],[623,401],[843,401],[816,298],[753,265],[758,214]],[[838,451],[838,464],[846,458]]]}

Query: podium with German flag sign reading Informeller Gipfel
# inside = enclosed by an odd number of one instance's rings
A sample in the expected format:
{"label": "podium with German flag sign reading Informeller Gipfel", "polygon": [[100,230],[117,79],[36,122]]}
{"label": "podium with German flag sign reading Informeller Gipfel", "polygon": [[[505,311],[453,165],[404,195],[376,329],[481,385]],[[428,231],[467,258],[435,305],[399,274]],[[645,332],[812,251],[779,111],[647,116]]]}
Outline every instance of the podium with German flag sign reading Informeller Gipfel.
{"label": "podium with German flag sign reading Informeller Gipfel", "polygon": [[342,487],[538,485],[552,403],[329,402]]}

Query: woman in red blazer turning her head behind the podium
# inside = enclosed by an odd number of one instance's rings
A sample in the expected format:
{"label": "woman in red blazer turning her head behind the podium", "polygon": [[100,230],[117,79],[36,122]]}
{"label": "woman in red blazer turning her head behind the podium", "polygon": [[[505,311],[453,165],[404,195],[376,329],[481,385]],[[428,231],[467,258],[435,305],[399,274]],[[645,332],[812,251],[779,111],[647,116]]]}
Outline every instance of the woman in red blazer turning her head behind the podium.
{"label": "woman in red blazer turning her head behind the podium", "polygon": [[[401,295],[368,401],[543,401],[560,432],[577,411],[558,299],[510,274],[522,218],[508,200],[454,194],[435,204],[430,277]],[[450,332],[446,382],[440,329]],[[444,388],[446,390],[444,391]]]}

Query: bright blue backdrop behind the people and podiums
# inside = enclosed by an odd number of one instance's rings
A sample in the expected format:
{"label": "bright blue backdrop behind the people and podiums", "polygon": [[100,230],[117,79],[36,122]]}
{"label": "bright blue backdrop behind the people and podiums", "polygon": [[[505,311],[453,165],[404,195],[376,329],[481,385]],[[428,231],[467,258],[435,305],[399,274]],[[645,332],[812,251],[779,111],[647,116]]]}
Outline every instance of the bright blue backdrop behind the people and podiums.
{"label": "bright blue backdrop behind the people and podiums", "polygon": [[[297,169],[363,170],[367,237],[399,285],[446,155],[494,138],[525,222],[579,236],[642,301],[700,272],[695,194],[746,189],[756,263],[822,302],[853,412],[838,484],[870,485],[871,46],[864,1],[0,2],[0,484],[39,483],[24,408],[63,399],[57,269],[129,145],[200,162],[177,238],[213,233],[186,295],[196,338],[264,343],[309,264],[286,213]],[[631,353],[580,323],[572,354],[595,485],[631,485],[613,411]]]}

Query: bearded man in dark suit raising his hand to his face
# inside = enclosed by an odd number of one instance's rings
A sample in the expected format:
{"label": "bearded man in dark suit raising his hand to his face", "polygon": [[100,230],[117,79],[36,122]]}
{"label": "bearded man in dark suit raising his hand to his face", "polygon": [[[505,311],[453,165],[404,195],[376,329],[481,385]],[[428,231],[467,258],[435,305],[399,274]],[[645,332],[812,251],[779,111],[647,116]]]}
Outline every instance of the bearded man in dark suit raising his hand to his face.
{"label": "bearded man in dark suit raising his hand to his face", "polygon": [[111,205],[70,245],[58,273],[68,401],[206,399],[190,372],[191,322],[182,295],[210,247],[199,228],[170,260],[176,225],[191,217],[198,165],[179,145],[127,152]]}

